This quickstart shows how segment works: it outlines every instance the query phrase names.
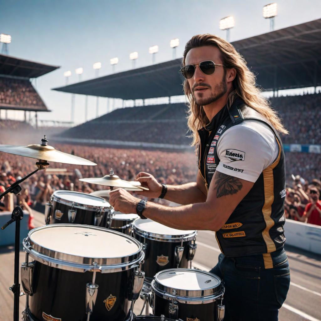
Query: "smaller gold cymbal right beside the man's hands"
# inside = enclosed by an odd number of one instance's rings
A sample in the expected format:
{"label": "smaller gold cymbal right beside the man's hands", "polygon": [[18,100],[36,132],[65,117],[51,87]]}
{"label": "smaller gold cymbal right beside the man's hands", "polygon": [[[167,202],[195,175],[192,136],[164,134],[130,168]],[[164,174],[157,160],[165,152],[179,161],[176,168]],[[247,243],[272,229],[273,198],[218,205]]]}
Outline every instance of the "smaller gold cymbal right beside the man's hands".
{"label": "smaller gold cymbal right beside the man's hands", "polygon": [[[104,177],[91,177],[91,178],[81,178],[79,179],[82,182],[90,183],[90,184],[97,184],[97,185],[103,185],[103,186],[110,186],[110,187],[121,187],[124,189],[130,188],[135,191],[140,191],[140,190],[149,190],[146,187],[140,186],[140,182],[128,182],[125,181],[119,176],[114,175],[114,171],[111,169],[109,175],[105,175]],[[134,184],[132,184],[134,183]]]}

